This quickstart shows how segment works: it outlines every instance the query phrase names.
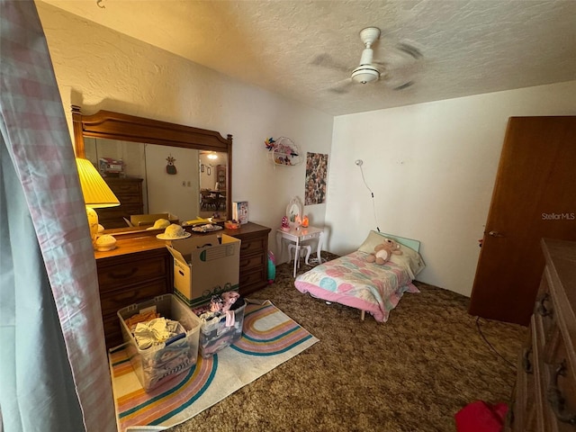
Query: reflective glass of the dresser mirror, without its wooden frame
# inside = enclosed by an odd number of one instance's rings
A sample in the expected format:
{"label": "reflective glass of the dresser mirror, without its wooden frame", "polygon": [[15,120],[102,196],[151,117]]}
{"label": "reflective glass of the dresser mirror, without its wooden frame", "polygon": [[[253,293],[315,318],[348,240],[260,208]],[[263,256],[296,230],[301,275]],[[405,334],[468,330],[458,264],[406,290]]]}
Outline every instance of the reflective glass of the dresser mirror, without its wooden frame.
{"label": "reflective glass of the dresser mirror, without its wooden frame", "polygon": [[[130,205],[130,214],[169,213],[184,221],[227,210],[226,153],[85,138],[85,157],[99,168],[107,182],[127,192],[121,201]],[[202,170],[201,166],[207,169]],[[141,200],[138,192],[128,191],[135,179],[141,179]],[[211,205],[202,205],[202,190],[210,191],[214,198]],[[104,229],[129,226],[124,220],[126,210],[101,211]]]}

